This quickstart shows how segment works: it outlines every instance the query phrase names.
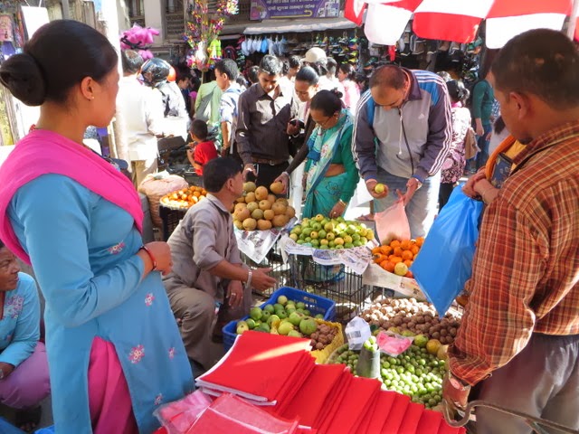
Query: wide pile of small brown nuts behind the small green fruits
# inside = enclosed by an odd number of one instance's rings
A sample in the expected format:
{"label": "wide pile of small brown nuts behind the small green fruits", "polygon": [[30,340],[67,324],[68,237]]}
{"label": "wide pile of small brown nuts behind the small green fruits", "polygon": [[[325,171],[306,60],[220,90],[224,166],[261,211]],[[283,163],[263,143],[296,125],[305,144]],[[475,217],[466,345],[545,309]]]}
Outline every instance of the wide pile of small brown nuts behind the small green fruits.
{"label": "wide pile of small brown nuts behind the small green fruits", "polygon": [[414,335],[438,339],[443,345],[454,342],[460,326],[460,316],[447,313],[439,318],[430,303],[415,298],[384,297],[367,307],[361,316],[383,330],[399,334],[410,330]]}

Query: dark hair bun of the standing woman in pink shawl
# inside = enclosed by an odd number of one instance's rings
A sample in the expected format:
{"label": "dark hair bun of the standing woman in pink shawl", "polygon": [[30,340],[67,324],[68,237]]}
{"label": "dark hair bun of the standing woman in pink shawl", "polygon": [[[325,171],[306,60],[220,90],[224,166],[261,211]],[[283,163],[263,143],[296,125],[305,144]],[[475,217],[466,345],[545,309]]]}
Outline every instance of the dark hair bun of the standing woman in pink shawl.
{"label": "dark hair bun of the standing woman in pink shawl", "polygon": [[25,52],[14,54],[0,65],[0,82],[14,98],[27,106],[40,106],[46,99],[43,72],[33,57]]}

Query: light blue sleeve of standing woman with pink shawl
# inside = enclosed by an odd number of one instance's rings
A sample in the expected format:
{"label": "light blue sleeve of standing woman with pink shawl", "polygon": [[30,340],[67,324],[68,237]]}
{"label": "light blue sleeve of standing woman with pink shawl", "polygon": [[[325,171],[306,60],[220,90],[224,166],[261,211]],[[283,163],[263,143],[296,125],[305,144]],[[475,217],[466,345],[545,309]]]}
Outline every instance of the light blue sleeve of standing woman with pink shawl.
{"label": "light blue sleeve of standing woman with pink shawl", "polygon": [[90,221],[99,198],[71,178],[43,175],[21,187],[12,200],[13,225],[24,229],[21,242],[46,306],[69,327],[118,307],[143,276],[144,264],[137,255],[100,274],[92,272]]}

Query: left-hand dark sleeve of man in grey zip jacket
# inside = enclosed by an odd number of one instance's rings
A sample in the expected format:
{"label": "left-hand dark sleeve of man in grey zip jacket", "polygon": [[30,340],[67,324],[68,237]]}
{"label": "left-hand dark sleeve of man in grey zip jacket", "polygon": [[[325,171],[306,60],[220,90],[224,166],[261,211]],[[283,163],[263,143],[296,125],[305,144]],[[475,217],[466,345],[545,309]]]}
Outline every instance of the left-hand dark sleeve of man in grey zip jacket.
{"label": "left-hand dark sleeve of man in grey zip jacket", "polygon": [[375,157],[375,132],[368,120],[368,110],[366,109],[366,103],[372,103],[372,101],[368,102],[370,99],[372,99],[372,95],[370,90],[367,90],[358,101],[352,137],[352,156],[354,156],[360,176],[365,181],[375,179],[378,173]]}

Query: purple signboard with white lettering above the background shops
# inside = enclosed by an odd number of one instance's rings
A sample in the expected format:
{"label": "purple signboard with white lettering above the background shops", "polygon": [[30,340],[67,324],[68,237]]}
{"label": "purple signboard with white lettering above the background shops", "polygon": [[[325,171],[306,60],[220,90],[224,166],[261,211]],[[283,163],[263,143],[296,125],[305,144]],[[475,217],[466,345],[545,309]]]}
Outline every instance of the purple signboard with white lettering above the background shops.
{"label": "purple signboard with white lettering above the background shops", "polygon": [[339,0],[252,0],[250,19],[334,18],[339,12]]}

